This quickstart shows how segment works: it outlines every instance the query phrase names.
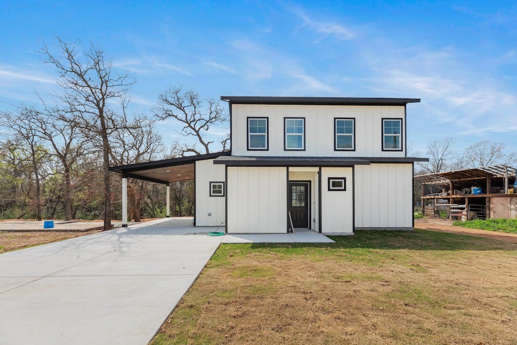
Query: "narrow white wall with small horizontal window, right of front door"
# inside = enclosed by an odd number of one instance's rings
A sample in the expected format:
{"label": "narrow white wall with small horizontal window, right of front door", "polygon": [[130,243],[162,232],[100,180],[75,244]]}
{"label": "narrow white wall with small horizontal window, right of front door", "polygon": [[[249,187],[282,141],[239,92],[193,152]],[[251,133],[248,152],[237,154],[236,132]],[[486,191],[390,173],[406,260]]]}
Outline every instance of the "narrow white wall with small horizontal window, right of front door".
{"label": "narrow white wall with small horizontal window, right of front door", "polygon": [[[345,177],[346,190],[328,190],[329,177]],[[352,168],[322,168],[322,233],[354,232]]]}

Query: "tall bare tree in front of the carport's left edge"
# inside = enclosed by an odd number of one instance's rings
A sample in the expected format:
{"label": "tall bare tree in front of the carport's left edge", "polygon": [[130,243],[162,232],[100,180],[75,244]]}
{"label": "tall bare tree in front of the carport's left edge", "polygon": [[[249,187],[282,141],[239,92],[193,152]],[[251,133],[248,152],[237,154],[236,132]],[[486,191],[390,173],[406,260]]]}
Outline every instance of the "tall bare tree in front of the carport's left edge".
{"label": "tall bare tree in front of the carport's left edge", "polygon": [[[41,49],[45,62],[59,74],[58,83],[65,89],[57,96],[65,104],[65,121],[74,123],[85,136],[102,150],[104,184],[104,230],[111,229],[111,181],[109,137],[120,130],[124,121],[129,87],[134,83],[127,72],[119,74],[94,44],[88,50],[78,43],[67,43],[57,38],[59,52],[52,53],[46,45]],[[119,104],[119,113],[112,107]]]}

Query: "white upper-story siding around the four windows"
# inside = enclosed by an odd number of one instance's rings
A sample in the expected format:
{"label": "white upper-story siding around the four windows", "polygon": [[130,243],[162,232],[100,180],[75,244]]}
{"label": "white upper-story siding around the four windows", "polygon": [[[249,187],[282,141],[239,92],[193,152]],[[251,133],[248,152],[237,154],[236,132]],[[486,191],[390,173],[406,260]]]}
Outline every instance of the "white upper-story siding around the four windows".
{"label": "white upper-story siding around the four windows", "polygon": [[[402,118],[403,106],[314,106],[232,104],[232,155],[305,157],[404,157],[403,151],[382,151],[382,118]],[[269,118],[268,151],[248,151],[247,117]],[[284,151],[284,117],[305,117],[305,151]],[[355,151],[334,151],[334,118],[355,118]]]}

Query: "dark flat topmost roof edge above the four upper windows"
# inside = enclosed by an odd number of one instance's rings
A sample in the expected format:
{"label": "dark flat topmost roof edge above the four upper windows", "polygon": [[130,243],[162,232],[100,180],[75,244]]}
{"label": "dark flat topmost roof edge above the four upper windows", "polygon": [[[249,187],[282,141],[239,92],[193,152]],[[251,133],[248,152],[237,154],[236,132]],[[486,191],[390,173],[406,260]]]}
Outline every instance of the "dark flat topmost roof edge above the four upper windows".
{"label": "dark flat topmost roof edge above the four upper windows", "polygon": [[221,96],[233,104],[313,104],[327,106],[405,106],[420,102],[420,98],[363,98],[363,97],[269,97]]}

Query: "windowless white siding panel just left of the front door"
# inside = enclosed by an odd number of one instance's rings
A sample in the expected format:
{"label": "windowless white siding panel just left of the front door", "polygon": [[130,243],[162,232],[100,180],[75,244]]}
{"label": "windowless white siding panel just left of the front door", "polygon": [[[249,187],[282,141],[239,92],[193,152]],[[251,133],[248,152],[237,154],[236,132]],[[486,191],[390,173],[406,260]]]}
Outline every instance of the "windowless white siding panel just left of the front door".
{"label": "windowless white siding panel just left of the front door", "polygon": [[285,167],[227,167],[228,233],[287,232]]}

